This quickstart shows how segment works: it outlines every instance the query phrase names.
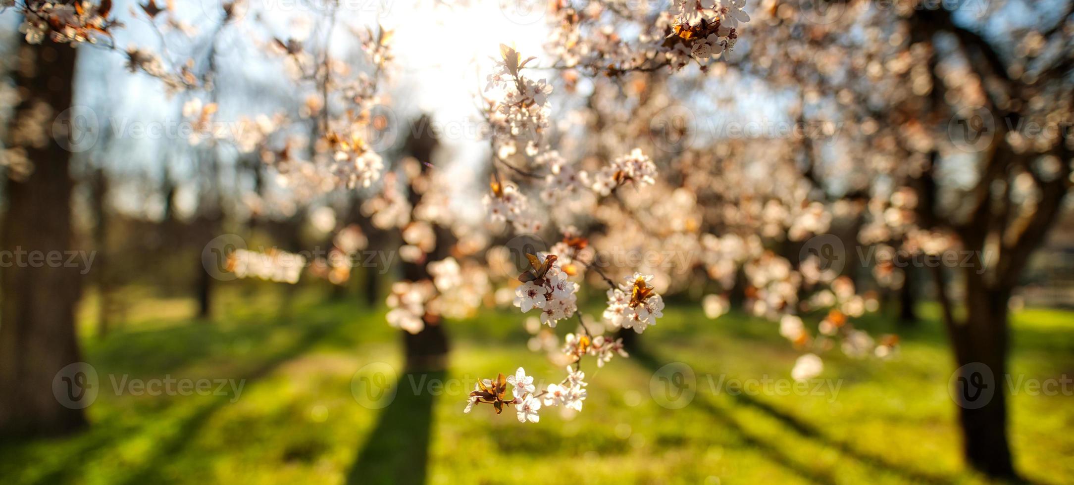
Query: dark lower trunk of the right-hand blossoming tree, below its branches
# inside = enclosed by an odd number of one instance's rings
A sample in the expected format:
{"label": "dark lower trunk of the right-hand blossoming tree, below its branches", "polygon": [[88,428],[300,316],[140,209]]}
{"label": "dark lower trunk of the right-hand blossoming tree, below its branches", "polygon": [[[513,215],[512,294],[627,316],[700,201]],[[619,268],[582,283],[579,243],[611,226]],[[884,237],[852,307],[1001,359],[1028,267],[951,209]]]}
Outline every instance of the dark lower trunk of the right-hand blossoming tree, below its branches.
{"label": "dark lower trunk of the right-hand blossoming tree, below its branches", "polygon": [[979,275],[966,271],[967,319],[950,328],[955,357],[956,402],[966,461],[1000,479],[1016,479],[1007,441],[1006,358],[1010,290],[989,289]]}

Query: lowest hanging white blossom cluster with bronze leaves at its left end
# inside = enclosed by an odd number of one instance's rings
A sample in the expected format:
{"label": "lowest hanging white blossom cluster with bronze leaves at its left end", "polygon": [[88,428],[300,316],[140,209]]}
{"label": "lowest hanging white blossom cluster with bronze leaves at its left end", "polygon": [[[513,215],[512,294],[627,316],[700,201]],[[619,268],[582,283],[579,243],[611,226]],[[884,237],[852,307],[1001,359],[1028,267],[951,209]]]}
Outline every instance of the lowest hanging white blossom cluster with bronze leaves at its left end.
{"label": "lowest hanging white blossom cluster with bronze leaves at its left end", "polygon": [[[478,403],[490,403],[496,410],[496,414],[504,411],[504,406],[516,406],[520,423],[540,421],[539,411],[541,407],[550,408],[562,406],[574,411],[582,410],[582,401],[585,400],[585,386],[583,379],[585,373],[580,370],[567,367],[567,377],[558,384],[549,384],[545,391],[536,393],[534,378],[526,376],[525,369],[519,369],[512,376],[504,377],[503,373],[496,379],[482,379],[474,385],[474,392],[466,398],[466,408],[463,412],[468,413]],[[511,386],[511,397],[507,397],[507,386]]]}

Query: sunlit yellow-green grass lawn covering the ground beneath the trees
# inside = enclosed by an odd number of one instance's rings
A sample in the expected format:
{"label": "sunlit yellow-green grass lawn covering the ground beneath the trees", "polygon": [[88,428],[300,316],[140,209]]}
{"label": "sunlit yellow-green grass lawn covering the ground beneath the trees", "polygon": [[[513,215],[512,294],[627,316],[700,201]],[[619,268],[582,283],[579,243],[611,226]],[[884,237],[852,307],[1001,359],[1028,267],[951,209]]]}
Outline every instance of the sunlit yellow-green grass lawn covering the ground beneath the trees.
{"label": "sunlit yellow-green grass lawn covering the ground beneath the trees", "polygon": [[[899,332],[895,361],[836,352],[823,378],[838,393],[735,395],[732,380],[786,379],[798,353],[773,324],[738,314],[705,319],[669,308],[643,336],[642,354],[596,369],[586,361],[582,413],[462,413],[474,379],[524,366],[546,382],[562,369],[526,350],[517,312],[488,310],[451,322],[442,393],[415,393],[401,374],[382,409],[359,403],[352,382],[374,363],[401,368],[400,336],[382,309],[300,292],[281,304],[272,286],[229,288],[213,322],[186,318],[185,299],[143,295],[127,323],[91,335],[86,361],[104,391],[77,435],[0,447],[3,483],[977,483],[959,458],[953,361],[934,320]],[[924,308],[929,319],[935,309]],[[591,312],[592,313],[592,312]],[[1074,372],[1074,313],[1026,310],[1014,318],[1012,369],[1031,379]],[[895,329],[882,317],[860,325]],[[560,334],[574,329],[562,326]],[[654,400],[654,372],[688,366],[695,396],[681,409]],[[245,379],[241,397],[116,396],[107,376]],[[372,374],[368,377],[373,377]],[[711,380],[710,380],[711,377]],[[411,378],[413,378],[411,380]],[[719,390],[713,384],[723,383]],[[659,387],[656,387],[657,390]],[[436,395],[433,395],[436,394]],[[381,401],[382,402],[382,401]],[[1042,483],[1074,480],[1070,396],[1013,396],[1019,471]]]}

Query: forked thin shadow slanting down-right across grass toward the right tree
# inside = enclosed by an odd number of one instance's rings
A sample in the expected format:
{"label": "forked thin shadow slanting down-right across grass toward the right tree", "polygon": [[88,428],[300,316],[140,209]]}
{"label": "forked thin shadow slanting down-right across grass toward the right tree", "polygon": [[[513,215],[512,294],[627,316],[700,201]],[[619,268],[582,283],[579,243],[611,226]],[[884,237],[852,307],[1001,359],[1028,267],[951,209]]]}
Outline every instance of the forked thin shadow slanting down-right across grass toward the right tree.
{"label": "forked thin shadow slanting down-right across grass toward the right tree", "polygon": [[[640,364],[650,371],[656,371],[664,365],[664,363],[662,363],[655,355],[649,353],[644,349],[635,349],[634,352],[630,353],[630,361]],[[883,457],[871,455],[861,452],[859,450],[856,450],[850,443],[827,436],[816,426],[811,425],[785,411],[779,410],[772,407],[771,405],[760,401],[753,396],[748,396],[743,393],[738,393],[737,395],[728,393],[728,395],[735,398],[736,403],[749,406],[751,408],[764,412],[773,420],[790,428],[801,437],[817,441],[823,445],[833,447],[838,450],[840,453],[851,458],[854,458],[858,461],[861,461],[872,468],[890,472],[903,480],[916,483],[934,483],[934,484],[950,483],[949,479],[918,470],[906,469],[905,467],[892,464],[884,459]],[[722,406],[717,406],[709,399],[695,399],[692,403],[698,405],[700,408],[705,409],[706,412],[708,412],[713,417],[726,424],[736,433],[740,435],[746,443],[756,446],[761,453],[768,455],[770,458],[772,458],[780,465],[795,471],[796,473],[800,473],[804,477],[812,480],[814,482],[818,483],[833,482],[830,474],[828,473],[821,474],[814,470],[803,468],[800,465],[795,464],[794,460],[792,460],[786,453],[780,451],[779,449],[773,447],[769,443],[763,442],[759,439],[750,436],[746,429],[744,429],[737,422],[728,417],[728,411],[730,411],[729,409]]]}

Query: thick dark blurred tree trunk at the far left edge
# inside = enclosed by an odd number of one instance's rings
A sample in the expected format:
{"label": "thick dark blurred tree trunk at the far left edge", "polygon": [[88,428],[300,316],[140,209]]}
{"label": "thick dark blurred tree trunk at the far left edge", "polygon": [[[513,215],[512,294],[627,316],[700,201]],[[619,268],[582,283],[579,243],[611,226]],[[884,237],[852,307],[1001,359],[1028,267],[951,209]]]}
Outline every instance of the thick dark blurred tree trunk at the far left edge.
{"label": "thick dark blurred tree trunk at the far left edge", "polygon": [[[57,139],[68,136],[63,141],[70,142],[75,134],[70,133],[71,123],[61,126],[62,132],[50,129],[57,115],[71,106],[75,53],[47,40],[20,46],[23,59],[16,62],[14,77],[23,95],[12,123],[38,123],[44,137],[9,144],[24,148],[34,165],[27,178],[8,182],[0,245],[13,254],[73,249],[71,152],[64,149],[70,145]],[[47,116],[40,116],[43,108]],[[0,436],[54,435],[86,425],[81,409],[64,407],[53,395],[57,372],[81,359],[74,319],[79,270],[27,262],[3,268],[0,277]]]}

